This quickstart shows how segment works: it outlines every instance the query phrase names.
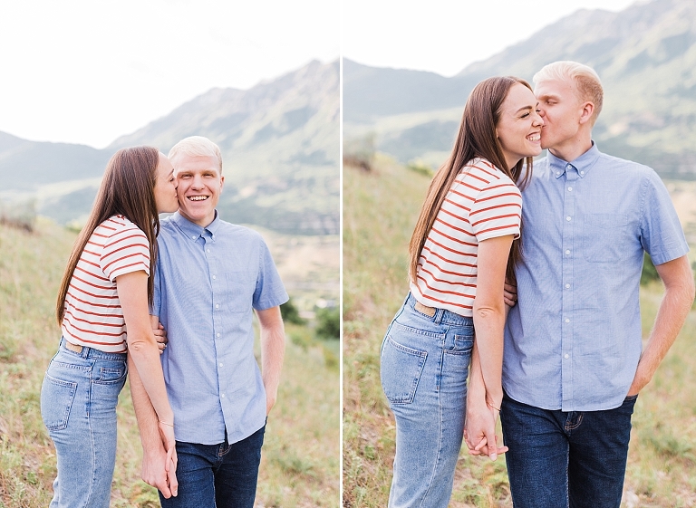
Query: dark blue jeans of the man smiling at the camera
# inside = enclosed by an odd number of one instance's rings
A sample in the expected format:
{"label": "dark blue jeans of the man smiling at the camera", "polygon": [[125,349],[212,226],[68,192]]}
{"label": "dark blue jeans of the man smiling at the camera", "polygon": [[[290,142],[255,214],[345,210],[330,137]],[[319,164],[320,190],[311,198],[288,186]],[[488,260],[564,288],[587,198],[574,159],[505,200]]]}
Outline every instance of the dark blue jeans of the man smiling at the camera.
{"label": "dark blue jeans of the man smiling at the camera", "polygon": [[253,508],[266,426],[229,445],[177,441],[179,495],[162,508]]}

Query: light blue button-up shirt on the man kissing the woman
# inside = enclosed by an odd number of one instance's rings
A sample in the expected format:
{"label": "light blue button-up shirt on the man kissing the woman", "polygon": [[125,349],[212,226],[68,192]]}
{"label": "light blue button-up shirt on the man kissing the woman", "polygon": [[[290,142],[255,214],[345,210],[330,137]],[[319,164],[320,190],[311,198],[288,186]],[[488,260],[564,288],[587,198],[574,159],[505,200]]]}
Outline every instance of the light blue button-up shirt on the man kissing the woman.
{"label": "light blue button-up shirt on the man kissing the woman", "polygon": [[689,251],[660,177],[600,153],[534,165],[522,193],[524,262],[507,317],[503,388],[545,409],[619,407],[642,350],[643,250]]}

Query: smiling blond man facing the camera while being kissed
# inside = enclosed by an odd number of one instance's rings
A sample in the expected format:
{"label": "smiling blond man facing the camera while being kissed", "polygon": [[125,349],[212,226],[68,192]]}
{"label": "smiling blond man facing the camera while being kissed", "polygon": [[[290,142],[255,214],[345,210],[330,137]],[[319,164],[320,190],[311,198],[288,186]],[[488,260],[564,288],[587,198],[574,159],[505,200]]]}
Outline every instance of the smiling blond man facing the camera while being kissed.
{"label": "smiling blond man facing the camera while being kissed", "polygon": [[[131,372],[142,477],[160,490],[165,508],[251,508],[283,364],[279,305],[287,293],[261,236],[218,217],[225,180],[218,146],[190,137],[169,159],[179,211],[161,222],[150,313],[169,339],[162,367],[178,463],[165,465],[158,418]],[[261,329],[263,375],[254,357],[252,311]]]}

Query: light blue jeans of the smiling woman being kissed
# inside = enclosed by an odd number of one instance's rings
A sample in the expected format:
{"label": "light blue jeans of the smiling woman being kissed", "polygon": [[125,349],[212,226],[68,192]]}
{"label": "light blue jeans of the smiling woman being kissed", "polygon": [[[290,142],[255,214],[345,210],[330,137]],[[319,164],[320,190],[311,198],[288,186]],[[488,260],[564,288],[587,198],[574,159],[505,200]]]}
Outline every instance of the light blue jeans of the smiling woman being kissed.
{"label": "light blue jeans of the smiling woman being kissed", "polygon": [[474,323],[415,304],[409,294],[382,342],[382,388],[396,417],[389,506],[445,508],[464,432]]}

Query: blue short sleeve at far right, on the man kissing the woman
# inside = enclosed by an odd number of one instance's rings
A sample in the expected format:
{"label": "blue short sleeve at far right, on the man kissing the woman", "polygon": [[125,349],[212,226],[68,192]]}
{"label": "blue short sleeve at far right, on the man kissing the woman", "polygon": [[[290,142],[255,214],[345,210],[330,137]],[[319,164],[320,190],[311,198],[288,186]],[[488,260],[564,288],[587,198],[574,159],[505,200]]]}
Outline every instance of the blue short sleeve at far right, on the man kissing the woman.
{"label": "blue short sleeve at far right, on the man kissing the woman", "polygon": [[643,181],[641,244],[653,264],[663,264],[689,252],[672,198],[657,173]]}

